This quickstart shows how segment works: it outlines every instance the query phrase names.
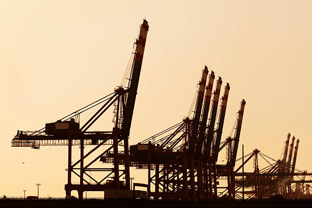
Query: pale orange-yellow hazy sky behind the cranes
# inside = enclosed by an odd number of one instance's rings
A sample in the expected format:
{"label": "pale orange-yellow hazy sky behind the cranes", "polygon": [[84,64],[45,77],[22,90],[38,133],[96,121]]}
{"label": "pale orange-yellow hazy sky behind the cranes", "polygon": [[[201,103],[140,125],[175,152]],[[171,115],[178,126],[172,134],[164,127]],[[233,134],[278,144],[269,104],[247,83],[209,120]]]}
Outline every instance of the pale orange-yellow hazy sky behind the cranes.
{"label": "pale orange-yellow hazy sky behind the cranes", "polygon": [[[300,139],[296,168],[312,172],[312,1],[3,0],[0,195],[36,195],[40,183],[41,197],[65,196],[66,147],[10,142],[17,129],[37,130],[113,92],[143,18],[150,28],[130,144],[188,114],[206,65],[222,89],[231,87],[222,140],[244,98],[238,154],[244,144],[245,153],[257,148],[277,160],[290,132]],[[106,114],[90,130],[111,131],[113,114]],[[146,183],[146,172],[131,174]]]}

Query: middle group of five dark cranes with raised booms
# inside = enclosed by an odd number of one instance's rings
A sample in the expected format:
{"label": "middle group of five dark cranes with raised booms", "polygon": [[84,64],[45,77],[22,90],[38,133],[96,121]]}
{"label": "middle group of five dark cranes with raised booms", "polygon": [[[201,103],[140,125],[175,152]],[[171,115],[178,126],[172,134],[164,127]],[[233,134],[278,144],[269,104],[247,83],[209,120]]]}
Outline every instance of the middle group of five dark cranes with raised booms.
{"label": "middle group of five dark cranes with raised booms", "polygon": [[[215,80],[205,66],[198,84],[193,117],[183,120],[136,145],[130,146],[130,165],[148,170],[149,197],[209,199],[218,197],[218,178],[228,177],[228,193],[235,198],[235,166],[245,100],[238,111],[235,134],[221,142],[230,86],[226,83],[220,99],[222,79]],[[206,85],[207,83],[207,85]],[[221,100],[219,105],[219,100]],[[218,108],[219,106],[219,108]],[[227,147],[226,165],[217,165],[218,154]],[[119,152],[119,164],[124,164],[125,154]],[[115,162],[108,152],[101,157],[103,163]]]}

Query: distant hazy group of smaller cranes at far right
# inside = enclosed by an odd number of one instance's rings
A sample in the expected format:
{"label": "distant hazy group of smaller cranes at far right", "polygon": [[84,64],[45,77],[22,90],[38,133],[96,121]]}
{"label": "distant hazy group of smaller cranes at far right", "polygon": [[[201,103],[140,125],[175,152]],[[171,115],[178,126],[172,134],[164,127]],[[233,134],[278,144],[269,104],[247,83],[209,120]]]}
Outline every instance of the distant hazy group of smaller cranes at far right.
{"label": "distant hazy group of smaller cranes at far right", "polygon": [[[283,147],[282,159],[280,160],[275,160],[258,149],[254,149],[251,153],[239,159],[245,159],[245,161],[243,161],[242,165],[235,171],[237,193],[241,196],[245,195],[247,199],[272,198],[274,196],[291,199],[297,198],[297,196],[300,195],[298,195],[300,192],[298,191],[298,187],[309,187],[304,185],[304,183],[311,183],[312,181],[306,180],[305,177],[311,176],[312,173],[297,170],[295,167],[299,139],[297,139],[295,144],[295,137],[292,137],[291,143],[290,138],[291,135],[288,133],[287,140]],[[239,172],[242,166],[251,161],[251,158],[253,158],[253,172]],[[267,166],[259,169],[258,158],[262,158],[266,161]],[[295,172],[295,170],[297,170],[297,172]],[[298,178],[296,179],[295,177]]]}

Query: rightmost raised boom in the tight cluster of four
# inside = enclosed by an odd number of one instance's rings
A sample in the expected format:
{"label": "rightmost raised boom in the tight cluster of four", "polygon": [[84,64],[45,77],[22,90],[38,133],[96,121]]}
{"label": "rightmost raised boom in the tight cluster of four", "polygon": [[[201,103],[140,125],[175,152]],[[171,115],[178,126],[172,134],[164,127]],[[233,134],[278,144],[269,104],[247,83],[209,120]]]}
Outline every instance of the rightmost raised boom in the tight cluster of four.
{"label": "rightmost raised boom in the tight cluster of four", "polygon": [[217,130],[217,136],[216,136],[216,142],[213,152],[213,161],[217,162],[218,160],[218,154],[219,154],[219,148],[220,148],[220,142],[221,142],[221,136],[222,136],[222,129],[224,124],[224,118],[225,118],[225,111],[226,111],[226,105],[227,105],[227,99],[228,99],[228,93],[230,90],[230,86],[228,83],[226,83],[225,89],[224,89],[224,95],[222,96],[222,102],[221,102],[221,111],[219,115],[218,120],[218,130]]}

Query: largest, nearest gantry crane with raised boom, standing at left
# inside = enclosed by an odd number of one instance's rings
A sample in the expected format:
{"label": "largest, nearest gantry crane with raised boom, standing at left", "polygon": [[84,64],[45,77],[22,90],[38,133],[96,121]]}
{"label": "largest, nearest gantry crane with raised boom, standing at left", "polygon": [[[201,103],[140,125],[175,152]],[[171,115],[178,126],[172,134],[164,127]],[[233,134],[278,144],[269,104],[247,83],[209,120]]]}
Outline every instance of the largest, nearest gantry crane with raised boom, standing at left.
{"label": "largest, nearest gantry crane with raised boom, standing at left", "polygon": [[[71,191],[78,191],[79,198],[83,198],[84,191],[104,191],[109,189],[130,190],[130,172],[129,172],[129,145],[128,137],[132,123],[134,106],[137,96],[140,72],[142,67],[146,37],[148,32],[148,22],[144,19],[140,27],[139,37],[134,45],[133,61],[128,77],[127,86],[118,86],[114,92],[95,101],[90,105],[79,109],[56,122],[46,123],[44,128],[34,132],[18,131],[12,140],[12,146],[30,146],[38,149],[40,145],[68,145],[68,176],[65,185],[66,195],[70,196]],[[80,127],[80,115],[87,110],[98,107],[98,111]],[[114,127],[112,131],[90,132],[88,129],[92,124],[110,107],[114,106]],[[80,159],[72,164],[72,145],[80,146]],[[85,154],[85,145],[96,145]],[[99,150],[99,147],[108,145],[105,151],[101,152],[90,163],[85,165],[86,158],[90,154]],[[118,151],[123,147],[124,157],[122,164],[124,169],[119,169]],[[113,168],[95,168],[92,167],[95,161],[102,155],[113,151]],[[77,167],[80,165],[80,167]],[[87,172],[101,171],[103,177],[96,179]],[[72,173],[80,178],[79,184],[72,184]],[[113,176],[111,176],[113,175]],[[120,177],[125,176],[125,184]],[[84,176],[92,179],[90,183]],[[110,180],[108,178],[113,178]]]}

